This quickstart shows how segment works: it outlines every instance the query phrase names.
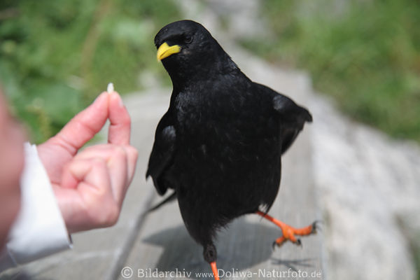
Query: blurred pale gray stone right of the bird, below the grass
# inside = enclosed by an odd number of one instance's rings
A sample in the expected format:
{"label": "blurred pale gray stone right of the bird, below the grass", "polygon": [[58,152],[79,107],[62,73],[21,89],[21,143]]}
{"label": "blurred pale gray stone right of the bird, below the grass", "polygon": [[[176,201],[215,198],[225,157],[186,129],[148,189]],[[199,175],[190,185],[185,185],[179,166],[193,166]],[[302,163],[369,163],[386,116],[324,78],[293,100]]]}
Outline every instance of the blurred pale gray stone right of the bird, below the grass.
{"label": "blurred pale gray stone right of the bird, below the grass", "polygon": [[414,279],[405,231],[420,232],[420,148],[314,96],[311,144],[329,279]]}

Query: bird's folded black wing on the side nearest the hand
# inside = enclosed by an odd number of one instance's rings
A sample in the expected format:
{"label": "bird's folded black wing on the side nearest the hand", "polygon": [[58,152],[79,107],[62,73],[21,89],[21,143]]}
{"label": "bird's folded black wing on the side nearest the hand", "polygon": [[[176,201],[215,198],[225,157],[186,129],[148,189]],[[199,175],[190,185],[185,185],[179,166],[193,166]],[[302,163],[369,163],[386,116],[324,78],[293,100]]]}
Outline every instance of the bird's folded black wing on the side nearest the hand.
{"label": "bird's folded black wing on the side nearest the hand", "polygon": [[155,133],[155,143],[153,144],[151,157],[148,162],[146,178],[151,176],[153,184],[160,195],[164,195],[167,186],[162,180],[162,174],[170,165],[175,151],[176,131],[169,113],[160,120]]}

